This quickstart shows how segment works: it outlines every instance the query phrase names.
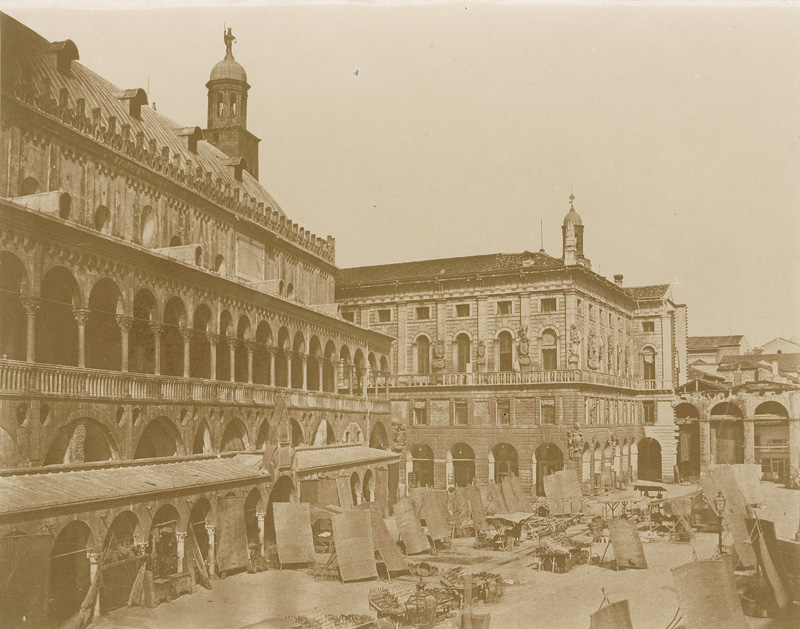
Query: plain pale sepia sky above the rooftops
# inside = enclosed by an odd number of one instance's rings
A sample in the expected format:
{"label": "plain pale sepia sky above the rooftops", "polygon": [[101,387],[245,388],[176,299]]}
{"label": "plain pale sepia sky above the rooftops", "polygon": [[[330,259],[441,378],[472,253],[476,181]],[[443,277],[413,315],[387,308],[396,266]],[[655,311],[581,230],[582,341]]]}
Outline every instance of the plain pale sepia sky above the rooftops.
{"label": "plain pale sepia sky above the rooftops", "polygon": [[187,126],[230,26],[260,180],[340,267],[560,256],[572,192],[691,335],[800,337],[798,3],[35,1],[0,9]]}

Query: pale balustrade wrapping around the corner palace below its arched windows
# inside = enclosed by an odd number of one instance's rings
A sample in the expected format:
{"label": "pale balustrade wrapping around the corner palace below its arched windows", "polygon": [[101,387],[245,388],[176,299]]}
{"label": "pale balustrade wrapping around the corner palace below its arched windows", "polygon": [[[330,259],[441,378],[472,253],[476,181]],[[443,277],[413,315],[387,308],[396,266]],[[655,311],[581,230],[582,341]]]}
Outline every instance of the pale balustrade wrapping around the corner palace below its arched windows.
{"label": "pale balustrade wrapping around the corner palace below its arched windows", "polygon": [[595,384],[634,391],[668,391],[664,380],[639,380],[581,369],[544,371],[480,371],[465,373],[396,374],[389,376],[389,388],[528,386],[547,384]]}

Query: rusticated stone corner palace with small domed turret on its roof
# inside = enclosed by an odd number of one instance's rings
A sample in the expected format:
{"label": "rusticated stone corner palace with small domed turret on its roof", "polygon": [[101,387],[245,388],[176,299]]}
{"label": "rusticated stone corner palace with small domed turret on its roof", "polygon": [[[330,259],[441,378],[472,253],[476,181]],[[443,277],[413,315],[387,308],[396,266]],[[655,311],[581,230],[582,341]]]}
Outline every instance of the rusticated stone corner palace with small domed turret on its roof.
{"label": "rusticated stone corner palace with small domed turret on its roof", "polygon": [[668,284],[592,271],[570,196],[544,250],[341,269],[342,316],[397,340],[392,417],[405,482],[449,487],[575,469],[588,486],[671,481],[686,306]]}

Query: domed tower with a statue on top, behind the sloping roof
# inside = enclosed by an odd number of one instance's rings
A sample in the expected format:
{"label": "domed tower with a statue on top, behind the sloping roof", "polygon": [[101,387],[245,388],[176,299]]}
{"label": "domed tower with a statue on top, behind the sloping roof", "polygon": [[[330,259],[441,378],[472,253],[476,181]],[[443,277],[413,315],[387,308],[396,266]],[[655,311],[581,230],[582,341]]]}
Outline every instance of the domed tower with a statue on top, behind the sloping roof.
{"label": "domed tower with a statue on top, behind the sloping roof", "polygon": [[229,28],[224,32],[225,58],[211,70],[208,88],[208,126],[203,134],[232,158],[243,157],[246,170],[258,179],[258,143],[261,141],[247,130],[247,73],[233,58],[236,38]]}

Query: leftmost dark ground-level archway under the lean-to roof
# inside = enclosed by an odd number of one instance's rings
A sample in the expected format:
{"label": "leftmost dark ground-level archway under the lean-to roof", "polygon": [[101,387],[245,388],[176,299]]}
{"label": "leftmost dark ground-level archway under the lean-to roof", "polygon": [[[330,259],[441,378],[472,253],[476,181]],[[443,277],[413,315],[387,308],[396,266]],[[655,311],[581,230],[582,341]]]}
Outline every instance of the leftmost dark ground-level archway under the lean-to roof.
{"label": "leftmost dark ground-level archway under the lean-to roof", "polygon": [[[50,553],[50,604],[53,620],[62,623],[81,608],[89,591],[89,553],[94,552],[94,535],[82,521],[67,524],[53,543]],[[10,576],[10,575],[7,575]]]}

